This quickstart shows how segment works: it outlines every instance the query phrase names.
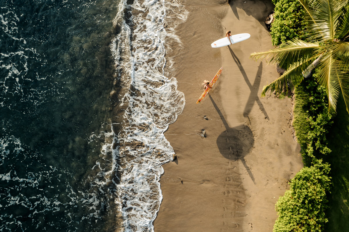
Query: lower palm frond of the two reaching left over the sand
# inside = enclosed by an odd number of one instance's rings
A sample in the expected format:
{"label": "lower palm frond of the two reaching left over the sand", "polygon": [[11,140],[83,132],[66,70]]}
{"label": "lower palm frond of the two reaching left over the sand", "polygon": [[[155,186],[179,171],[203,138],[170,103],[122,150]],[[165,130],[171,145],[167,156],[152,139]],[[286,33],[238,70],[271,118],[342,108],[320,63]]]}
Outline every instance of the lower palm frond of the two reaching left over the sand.
{"label": "lower palm frond of the two reaching left over the sand", "polygon": [[275,90],[276,92],[281,92],[284,86],[288,90],[288,83],[291,83],[294,86],[299,85],[304,79],[302,71],[303,69],[308,67],[310,63],[311,59],[301,60],[299,62],[291,64],[283,75],[281,75],[269,85],[263,86],[261,96],[264,97],[268,91],[273,92]]}

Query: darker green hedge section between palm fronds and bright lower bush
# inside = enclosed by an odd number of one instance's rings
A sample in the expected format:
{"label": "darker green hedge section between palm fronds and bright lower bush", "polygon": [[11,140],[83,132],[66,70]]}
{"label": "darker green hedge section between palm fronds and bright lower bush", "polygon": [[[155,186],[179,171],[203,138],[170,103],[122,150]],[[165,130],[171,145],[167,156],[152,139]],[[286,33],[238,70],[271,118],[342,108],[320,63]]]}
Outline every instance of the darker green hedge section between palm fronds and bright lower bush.
{"label": "darker green hedge section between palm fronds and bright lower bush", "polygon": [[310,165],[313,158],[331,153],[327,147],[326,135],[331,128],[331,115],[328,113],[328,98],[325,88],[317,84],[313,77],[296,87],[296,105],[293,125],[303,152],[303,162]]}

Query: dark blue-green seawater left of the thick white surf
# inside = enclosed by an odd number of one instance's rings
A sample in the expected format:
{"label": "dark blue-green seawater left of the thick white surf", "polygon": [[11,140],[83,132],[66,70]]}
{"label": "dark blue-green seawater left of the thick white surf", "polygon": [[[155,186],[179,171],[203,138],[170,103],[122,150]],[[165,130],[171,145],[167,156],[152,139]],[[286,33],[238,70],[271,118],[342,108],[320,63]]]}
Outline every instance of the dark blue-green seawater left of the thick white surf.
{"label": "dark blue-green seawater left of the thick white surf", "polygon": [[0,0],[0,231],[117,231],[111,165],[118,0]]}

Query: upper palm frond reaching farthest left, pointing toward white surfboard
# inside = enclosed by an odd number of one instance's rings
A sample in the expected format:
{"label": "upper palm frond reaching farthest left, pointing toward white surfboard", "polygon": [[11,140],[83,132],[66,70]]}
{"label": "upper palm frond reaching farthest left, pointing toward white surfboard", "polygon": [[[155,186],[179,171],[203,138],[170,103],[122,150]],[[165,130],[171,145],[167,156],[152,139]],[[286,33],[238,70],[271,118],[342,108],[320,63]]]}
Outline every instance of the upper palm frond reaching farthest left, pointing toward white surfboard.
{"label": "upper palm frond reaching farthest left, pointing toward white surfboard", "polygon": [[317,42],[310,43],[300,39],[293,39],[281,44],[279,47],[270,49],[267,52],[254,52],[251,54],[252,59],[266,59],[268,63],[280,64],[283,66],[286,64],[295,63],[299,60],[308,60],[309,58],[315,59],[313,52],[319,48]]}

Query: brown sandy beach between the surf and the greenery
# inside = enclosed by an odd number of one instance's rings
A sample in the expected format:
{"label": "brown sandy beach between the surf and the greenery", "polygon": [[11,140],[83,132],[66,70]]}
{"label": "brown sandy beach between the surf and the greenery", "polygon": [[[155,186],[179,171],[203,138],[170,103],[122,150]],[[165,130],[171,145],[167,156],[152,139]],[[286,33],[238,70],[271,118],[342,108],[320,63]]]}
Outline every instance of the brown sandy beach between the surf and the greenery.
{"label": "brown sandy beach between the surf and the greenery", "polygon": [[[290,129],[291,99],[260,98],[263,85],[279,75],[275,67],[250,59],[250,53],[272,48],[264,20],[273,5],[263,0],[182,4],[190,11],[177,30],[183,47],[169,55],[176,57],[186,105],[165,133],[178,160],[163,165],[155,232],[272,231],[275,203],[303,167]],[[227,30],[251,38],[211,48]],[[203,80],[211,80],[220,67],[213,90],[196,105]]]}

